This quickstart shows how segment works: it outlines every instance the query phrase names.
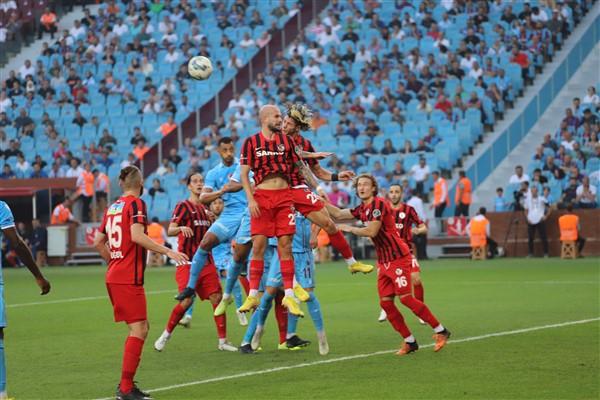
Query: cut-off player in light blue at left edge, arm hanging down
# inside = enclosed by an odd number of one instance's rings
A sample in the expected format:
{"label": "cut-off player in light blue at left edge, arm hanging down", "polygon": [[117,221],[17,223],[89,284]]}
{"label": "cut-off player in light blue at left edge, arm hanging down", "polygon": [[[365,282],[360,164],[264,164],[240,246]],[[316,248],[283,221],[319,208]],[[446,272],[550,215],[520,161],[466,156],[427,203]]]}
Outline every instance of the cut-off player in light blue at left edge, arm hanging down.
{"label": "cut-off player in light blue at left edge, arm hanging down", "polygon": [[[19,259],[35,277],[42,295],[50,292],[50,282],[44,278],[35,263],[29,247],[25,244],[15,227],[15,219],[8,204],[0,200],[0,229],[10,242]],[[6,328],[6,310],[4,309],[4,279],[2,278],[2,257],[0,254],[0,400],[8,399],[6,393],[6,361],[4,359],[4,328]]]}

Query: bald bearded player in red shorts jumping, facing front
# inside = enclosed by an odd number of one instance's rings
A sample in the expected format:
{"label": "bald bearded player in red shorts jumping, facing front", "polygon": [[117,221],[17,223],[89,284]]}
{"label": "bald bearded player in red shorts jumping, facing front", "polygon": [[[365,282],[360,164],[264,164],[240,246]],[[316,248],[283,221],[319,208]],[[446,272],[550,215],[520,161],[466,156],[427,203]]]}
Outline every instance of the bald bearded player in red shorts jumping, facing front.
{"label": "bald bearded player in red shorts jumping, facing front", "polygon": [[[240,312],[248,312],[259,304],[258,288],[264,271],[267,239],[277,237],[281,277],[285,289],[282,300],[288,312],[304,316],[293,291],[294,258],[292,237],[296,231],[295,210],[290,191],[290,173],[300,162],[291,139],[281,133],[281,111],[274,105],[260,109],[261,131],[242,145],[241,181],[248,198],[252,257],[250,260],[250,292]],[[255,190],[250,183],[254,173]]]}

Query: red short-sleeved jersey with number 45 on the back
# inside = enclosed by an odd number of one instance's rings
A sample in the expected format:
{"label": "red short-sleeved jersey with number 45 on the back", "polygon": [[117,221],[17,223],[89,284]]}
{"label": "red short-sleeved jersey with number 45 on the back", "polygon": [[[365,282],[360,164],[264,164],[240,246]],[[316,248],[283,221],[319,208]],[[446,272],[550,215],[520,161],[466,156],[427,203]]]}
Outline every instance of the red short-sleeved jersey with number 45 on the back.
{"label": "red short-sleeved jersey with number 45 on the back", "polygon": [[142,224],[147,232],[146,203],[138,197],[120,197],[104,214],[100,232],[108,238],[110,251],[106,283],[144,284],[146,249],[131,240],[133,224]]}

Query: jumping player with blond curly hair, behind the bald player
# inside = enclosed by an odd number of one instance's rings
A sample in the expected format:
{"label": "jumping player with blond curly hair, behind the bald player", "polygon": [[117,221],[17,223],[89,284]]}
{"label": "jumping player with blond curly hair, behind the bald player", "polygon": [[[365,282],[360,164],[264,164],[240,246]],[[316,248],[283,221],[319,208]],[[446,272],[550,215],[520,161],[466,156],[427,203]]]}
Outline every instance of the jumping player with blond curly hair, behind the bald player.
{"label": "jumping player with blond curly hair, behind the bald player", "polygon": [[[311,123],[312,112],[308,107],[302,104],[292,104],[288,107],[287,115],[283,120],[283,132],[293,140],[296,152],[300,156],[306,153],[317,154],[310,140],[300,134],[301,131],[310,129]],[[329,153],[321,154],[325,155]],[[352,254],[352,248],[348,244],[344,234],[337,228],[324,209],[325,203],[313,194],[309,186],[307,186],[307,184],[310,185],[321,196],[326,198],[327,195],[318,185],[315,177],[324,181],[348,181],[354,177],[354,173],[352,171],[342,171],[336,174],[324,169],[319,164],[317,158],[306,158],[302,162],[295,164],[290,173],[292,197],[294,208],[329,235],[331,245],[344,257],[350,272],[372,272],[374,269],[372,265],[356,261]]]}

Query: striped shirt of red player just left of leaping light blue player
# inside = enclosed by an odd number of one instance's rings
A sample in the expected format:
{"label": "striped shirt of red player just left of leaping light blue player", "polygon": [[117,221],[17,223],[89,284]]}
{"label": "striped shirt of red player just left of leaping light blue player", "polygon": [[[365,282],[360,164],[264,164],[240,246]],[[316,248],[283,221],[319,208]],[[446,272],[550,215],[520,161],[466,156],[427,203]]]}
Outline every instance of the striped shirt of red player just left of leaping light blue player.
{"label": "striped shirt of red player just left of leaping light blue player", "polygon": [[[175,206],[171,222],[178,226],[187,226],[194,231],[194,235],[189,238],[183,236],[182,233],[177,236],[177,250],[188,256],[191,261],[211,225],[206,207],[202,204],[194,204],[189,200],[180,201]],[[207,263],[213,263],[212,255],[208,257]]]}

